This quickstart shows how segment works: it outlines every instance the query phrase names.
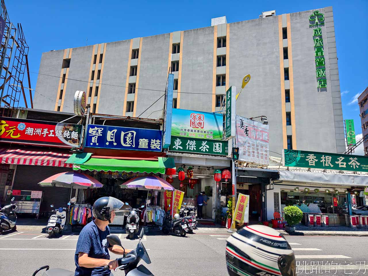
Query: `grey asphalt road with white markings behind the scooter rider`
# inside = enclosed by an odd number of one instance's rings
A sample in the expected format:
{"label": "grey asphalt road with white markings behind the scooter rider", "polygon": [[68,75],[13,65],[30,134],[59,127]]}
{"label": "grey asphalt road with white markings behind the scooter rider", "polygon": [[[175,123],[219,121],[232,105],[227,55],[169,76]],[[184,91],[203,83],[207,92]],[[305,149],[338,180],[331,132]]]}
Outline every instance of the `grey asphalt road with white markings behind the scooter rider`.
{"label": "grey asphalt road with white markings behind the scooter rider", "polygon": [[[135,248],[137,245],[137,241],[126,240],[125,234],[117,234],[124,247]],[[215,229],[198,230],[184,238],[148,234],[143,243],[152,263],[146,266],[154,275],[162,276],[228,275],[224,258],[228,235]],[[74,270],[77,239],[78,233],[50,240],[45,234],[27,231],[0,236],[1,271],[14,276],[31,276],[43,265]],[[294,249],[298,275],[360,275],[365,272],[364,268],[368,269],[368,237],[290,236],[286,239]],[[356,262],[360,262],[360,271]],[[114,275],[124,274],[118,271]]]}

